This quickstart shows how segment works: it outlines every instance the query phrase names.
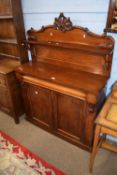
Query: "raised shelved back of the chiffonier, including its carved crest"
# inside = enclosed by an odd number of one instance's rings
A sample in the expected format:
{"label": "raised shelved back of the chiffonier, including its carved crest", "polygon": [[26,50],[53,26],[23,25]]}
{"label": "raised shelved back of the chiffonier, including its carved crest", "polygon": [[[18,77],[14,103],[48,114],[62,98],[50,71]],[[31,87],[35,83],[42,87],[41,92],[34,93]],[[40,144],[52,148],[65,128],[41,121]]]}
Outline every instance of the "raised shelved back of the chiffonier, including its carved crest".
{"label": "raised shelved back of the chiffonier, including its carved crest", "polygon": [[27,46],[32,61],[58,64],[103,76],[109,76],[114,40],[87,28],[73,26],[63,13],[54,24],[40,30],[31,28]]}

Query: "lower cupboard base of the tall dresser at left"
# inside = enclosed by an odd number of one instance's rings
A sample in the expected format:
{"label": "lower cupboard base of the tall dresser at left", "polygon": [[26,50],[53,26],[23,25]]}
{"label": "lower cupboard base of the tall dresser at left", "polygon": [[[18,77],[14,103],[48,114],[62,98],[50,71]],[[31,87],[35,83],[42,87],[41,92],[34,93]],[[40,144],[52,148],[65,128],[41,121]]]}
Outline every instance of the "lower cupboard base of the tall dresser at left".
{"label": "lower cupboard base of the tall dresser at left", "polygon": [[23,113],[23,107],[20,86],[13,70],[19,64],[14,60],[5,61],[2,60],[0,65],[0,109],[13,116],[18,123],[17,116]]}

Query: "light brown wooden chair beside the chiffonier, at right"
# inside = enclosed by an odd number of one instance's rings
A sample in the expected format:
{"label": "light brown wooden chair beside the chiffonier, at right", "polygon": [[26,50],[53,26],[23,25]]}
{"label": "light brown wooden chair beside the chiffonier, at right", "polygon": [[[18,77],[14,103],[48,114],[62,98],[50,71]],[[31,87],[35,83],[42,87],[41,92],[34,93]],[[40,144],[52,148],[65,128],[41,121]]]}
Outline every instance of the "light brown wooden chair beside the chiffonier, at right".
{"label": "light brown wooden chair beside the chiffonier, at right", "polygon": [[117,152],[117,147],[111,142],[107,143],[106,135],[117,137],[117,82],[112,86],[112,91],[96,121],[93,149],[90,157],[90,172],[93,170],[94,159],[98,149],[105,148]]}

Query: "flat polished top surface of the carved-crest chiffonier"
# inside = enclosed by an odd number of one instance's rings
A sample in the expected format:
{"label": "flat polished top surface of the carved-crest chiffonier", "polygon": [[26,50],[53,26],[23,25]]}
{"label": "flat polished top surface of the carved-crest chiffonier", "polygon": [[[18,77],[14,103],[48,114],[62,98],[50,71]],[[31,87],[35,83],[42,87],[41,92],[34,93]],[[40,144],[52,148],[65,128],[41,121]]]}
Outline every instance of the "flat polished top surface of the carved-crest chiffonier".
{"label": "flat polished top surface of the carved-crest chiffonier", "polygon": [[95,95],[105,86],[107,80],[103,76],[58,65],[53,66],[49,63],[25,63],[18,67],[17,72],[24,76],[37,78],[75,90],[81,90],[86,93],[94,93]]}

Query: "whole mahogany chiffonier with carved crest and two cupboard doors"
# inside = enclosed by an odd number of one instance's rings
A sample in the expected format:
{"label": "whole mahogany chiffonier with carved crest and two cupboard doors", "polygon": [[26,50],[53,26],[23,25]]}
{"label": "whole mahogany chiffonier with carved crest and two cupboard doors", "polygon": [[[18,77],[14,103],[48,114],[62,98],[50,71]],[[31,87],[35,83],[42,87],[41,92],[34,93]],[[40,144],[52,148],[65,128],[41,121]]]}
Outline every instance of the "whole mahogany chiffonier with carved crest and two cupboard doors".
{"label": "whole mahogany chiffonier with carved crest and two cupboard doors", "polygon": [[90,151],[110,75],[113,38],[73,26],[63,13],[53,25],[31,28],[27,35],[32,61],[16,69],[27,120]]}

